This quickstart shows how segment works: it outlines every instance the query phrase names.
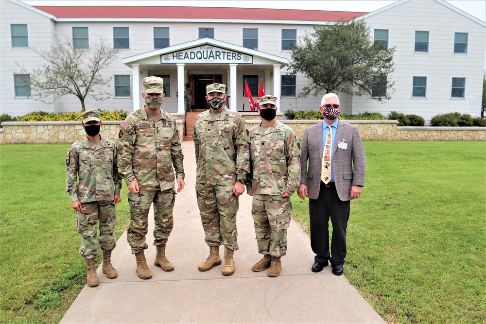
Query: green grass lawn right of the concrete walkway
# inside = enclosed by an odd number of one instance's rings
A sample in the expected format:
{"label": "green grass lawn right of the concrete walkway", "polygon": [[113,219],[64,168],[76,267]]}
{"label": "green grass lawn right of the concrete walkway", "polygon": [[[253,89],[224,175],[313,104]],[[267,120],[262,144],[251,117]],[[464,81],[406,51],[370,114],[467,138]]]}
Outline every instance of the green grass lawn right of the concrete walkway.
{"label": "green grass lawn right of the concrete walkway", "polygon": [[[388,323],[486,322],[485,142],[364,142],[345,275]],[[292,197],[309,229],[308,200]]]}

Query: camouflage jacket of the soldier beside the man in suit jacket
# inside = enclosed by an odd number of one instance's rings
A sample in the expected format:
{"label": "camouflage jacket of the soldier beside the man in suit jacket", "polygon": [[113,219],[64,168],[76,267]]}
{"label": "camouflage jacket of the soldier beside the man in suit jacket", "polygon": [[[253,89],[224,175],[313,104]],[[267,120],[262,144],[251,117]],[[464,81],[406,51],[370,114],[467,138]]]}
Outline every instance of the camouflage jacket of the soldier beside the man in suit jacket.
{"label": "camouflage jacket of the soldier beside the man in suit jacket", "polygon": [[253,194],[292,195],[300,183],[300,144],[289,126],[276,120],[266,131],[250,129],[250,174]]}

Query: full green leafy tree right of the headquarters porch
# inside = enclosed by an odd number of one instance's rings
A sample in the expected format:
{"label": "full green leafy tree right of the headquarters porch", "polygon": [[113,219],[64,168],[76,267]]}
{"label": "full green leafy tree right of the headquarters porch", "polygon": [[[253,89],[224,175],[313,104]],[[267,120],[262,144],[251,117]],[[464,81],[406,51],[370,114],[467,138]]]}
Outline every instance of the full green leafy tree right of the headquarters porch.
{"label": "full green leafy tree right of the headquarters porch", "polygon": [[[332,25],[314,26],[313,33],[299,38],[292,48],[289,72],[303,73],[311,83],[299,93],[305,98],[313,91],[343,92],[352,96],[369,95],[383,101],[390,99],[394,82],[390,80],[395,48],[386,49],[373,41],[364,20],[338,21]],[[373,87],[384,89],[373,96]]]}

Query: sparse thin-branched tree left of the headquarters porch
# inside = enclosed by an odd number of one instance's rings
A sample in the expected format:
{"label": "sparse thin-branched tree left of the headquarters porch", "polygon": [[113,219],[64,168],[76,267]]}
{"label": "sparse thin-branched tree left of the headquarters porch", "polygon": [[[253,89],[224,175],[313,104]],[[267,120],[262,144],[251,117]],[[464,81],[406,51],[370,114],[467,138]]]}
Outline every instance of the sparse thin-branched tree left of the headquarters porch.
{"label": "sparse thin-branched tree left of the headquarters porch", "polygon": [[[57,35],[50,51],[34,51],[47,63],[29,72],[19,66],[23,73],[30,74],[32,97],[45,103],[52,103],[57,98],[73,94],[81,102],[81,111],[85,111],[86,97],[103,101],[108,92],[95,90],[96,85],[107,85],[112,77],[102,77],[100,71],[111,64],[120,52],[113,49],[105,39],[91,41],[89,50],[73,48],[69,37],[61,40]],[[24,80],[29,84],[29,80]]]}

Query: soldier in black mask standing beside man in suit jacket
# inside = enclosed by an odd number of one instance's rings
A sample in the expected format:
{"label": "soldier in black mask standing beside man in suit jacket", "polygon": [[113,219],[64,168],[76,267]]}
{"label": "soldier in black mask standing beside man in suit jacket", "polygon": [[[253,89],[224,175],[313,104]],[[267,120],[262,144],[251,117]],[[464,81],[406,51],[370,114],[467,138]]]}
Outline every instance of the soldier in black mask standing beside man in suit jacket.
{"label": "soldier in black mask standing beside man in suit jacket", "polygon": [[263,258],[251,270],[270,268],[268,276],[277,277],[282,270],[280,257],[287,253],[290,196],[300,181],[300,144],[295,132],[277,120],[277,98],[263,96],[259,103],[261,122],[250,129],[251,167],[246,188],[253,196],[251,213]]}

